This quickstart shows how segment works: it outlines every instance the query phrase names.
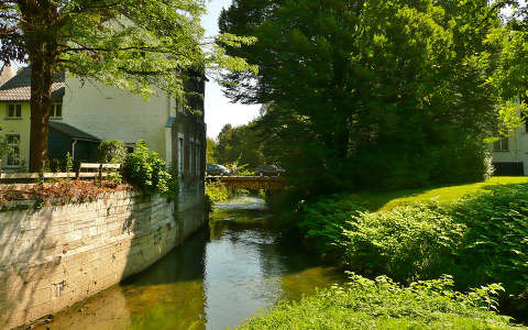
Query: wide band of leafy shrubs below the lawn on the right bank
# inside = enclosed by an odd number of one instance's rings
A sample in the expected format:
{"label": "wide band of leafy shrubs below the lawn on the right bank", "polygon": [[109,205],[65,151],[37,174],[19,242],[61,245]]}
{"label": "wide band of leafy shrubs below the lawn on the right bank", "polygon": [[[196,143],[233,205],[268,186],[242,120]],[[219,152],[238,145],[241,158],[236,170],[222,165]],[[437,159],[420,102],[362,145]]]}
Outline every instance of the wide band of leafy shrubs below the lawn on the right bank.
{"label": "wide band of leafy shrubs below the lawn on the right bank", "polygon": [[377,212],[333,196],[304,205],[298,227],[363,274],[410,283],[448,273],[460,289],[501,282],[508,294],[527,294],[528,184],[484,189]]}

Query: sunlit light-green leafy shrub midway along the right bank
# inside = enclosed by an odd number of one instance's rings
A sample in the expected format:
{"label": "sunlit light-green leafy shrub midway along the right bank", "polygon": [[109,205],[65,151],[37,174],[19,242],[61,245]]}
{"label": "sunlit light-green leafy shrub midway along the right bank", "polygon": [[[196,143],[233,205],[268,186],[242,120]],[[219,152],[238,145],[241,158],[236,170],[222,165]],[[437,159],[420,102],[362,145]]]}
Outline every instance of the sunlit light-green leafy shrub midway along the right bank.
{"label": "sunlit light-green leafy shrub midway along the right bank", "polygon": [[433,202],[360,212],[342,228],[345,239],[339,244],[349,267],[406,283],[453,271],[465,231]]}

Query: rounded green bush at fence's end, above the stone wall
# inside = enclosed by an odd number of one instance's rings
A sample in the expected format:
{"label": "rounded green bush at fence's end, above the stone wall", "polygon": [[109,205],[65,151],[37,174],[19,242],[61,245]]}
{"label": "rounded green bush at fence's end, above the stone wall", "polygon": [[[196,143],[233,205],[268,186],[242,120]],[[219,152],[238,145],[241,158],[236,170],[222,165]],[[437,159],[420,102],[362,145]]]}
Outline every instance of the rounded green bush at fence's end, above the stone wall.
{"label": "rounded green bush at fence's end, above the stone wall", "polygon": [[124,162],[124,177],[146,194],[169,193],[170,174],[166,170],[165,161],[153,151],[146,142],[138,141],[133,153]]}

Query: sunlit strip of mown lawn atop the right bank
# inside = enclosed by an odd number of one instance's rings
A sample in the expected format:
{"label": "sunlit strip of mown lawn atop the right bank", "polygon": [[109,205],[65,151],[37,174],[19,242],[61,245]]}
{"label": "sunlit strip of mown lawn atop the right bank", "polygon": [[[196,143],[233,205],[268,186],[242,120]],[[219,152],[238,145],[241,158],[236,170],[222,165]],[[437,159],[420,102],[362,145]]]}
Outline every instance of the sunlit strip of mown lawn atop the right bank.
{"label": "sunlit strip of mown lawn atop the right bank", "polygon": [[444,186],[437,188],[406,189],[394,191],[365,191],[352,195],[352,199],[365,206],[371,211],[389,210],[396,206],[415,201],[437,200],[439,202],[449,202],[455,200],[469,193],[485,191],[486,188],[496,185],[516,185],[527,184],[528,177],[525,176],[504,176],[492,177],[486,182]]}

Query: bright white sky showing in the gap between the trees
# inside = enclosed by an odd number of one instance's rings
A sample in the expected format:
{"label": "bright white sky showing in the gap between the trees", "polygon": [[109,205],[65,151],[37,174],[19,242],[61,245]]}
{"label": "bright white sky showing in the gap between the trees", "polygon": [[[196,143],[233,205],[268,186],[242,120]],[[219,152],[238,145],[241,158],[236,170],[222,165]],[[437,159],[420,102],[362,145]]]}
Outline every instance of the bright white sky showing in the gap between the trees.
{"label": "bright white sky showing in the gap between the trees", "polygon": [[[222,8],[229,8],[231,0],[210,0],[207,4],[208,13],[202,18],[202,25],[206,29],[207,36],[218,34],[218,16]],[[221,87],[209,81],[206,85],[206,124],[207,136],[217,138],[224,124],[230,123],[233,127],[242,125],[258,116],[261,106],[245,106],[231,103],[223,96]]]}

